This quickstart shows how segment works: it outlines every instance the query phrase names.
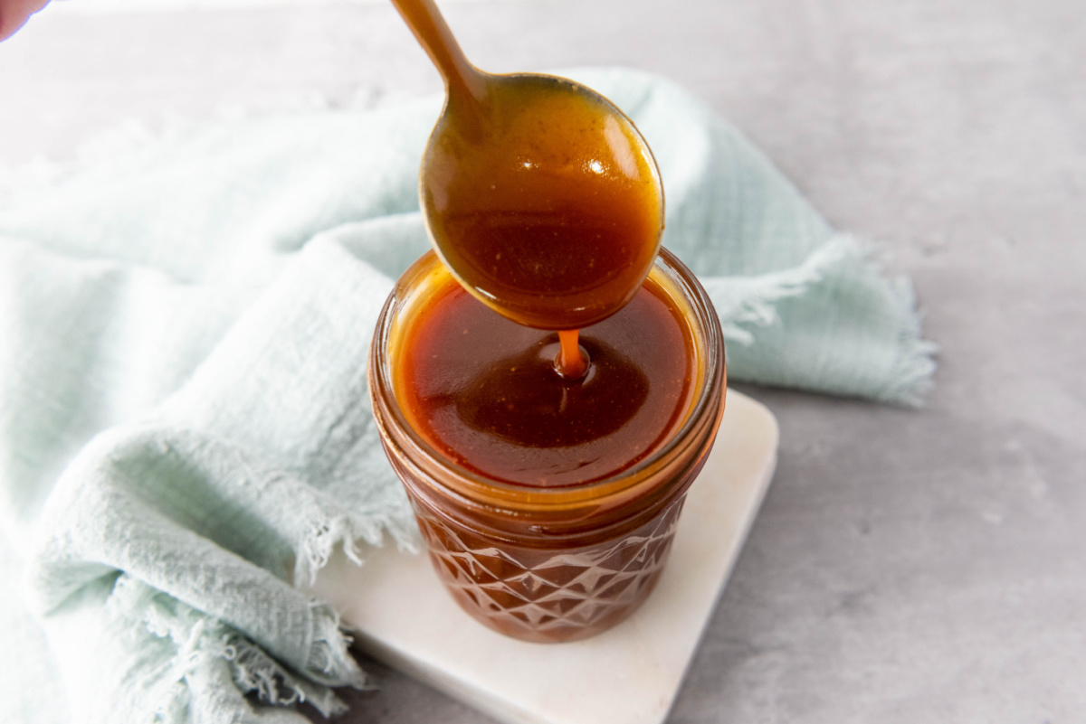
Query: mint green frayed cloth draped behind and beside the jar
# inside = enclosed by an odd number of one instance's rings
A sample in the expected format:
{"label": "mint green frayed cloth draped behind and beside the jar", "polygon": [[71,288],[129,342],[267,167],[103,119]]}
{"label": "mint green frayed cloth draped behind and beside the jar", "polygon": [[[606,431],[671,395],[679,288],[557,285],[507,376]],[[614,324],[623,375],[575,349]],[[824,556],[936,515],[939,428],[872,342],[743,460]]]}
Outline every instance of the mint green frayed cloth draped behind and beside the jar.
{"label": "mint green frayed cloth draped behind and beside the jar", "polygon": [[[909,286],[673,85],[569,74],[652,145],[732,379],[915,403]],[[295,721],[363,685],[294,584],[412,548],[365,352],[426,250],[440,99],[223,121],[0,202],[0,721]],[[25,603],[25,606],[23,605]]]}

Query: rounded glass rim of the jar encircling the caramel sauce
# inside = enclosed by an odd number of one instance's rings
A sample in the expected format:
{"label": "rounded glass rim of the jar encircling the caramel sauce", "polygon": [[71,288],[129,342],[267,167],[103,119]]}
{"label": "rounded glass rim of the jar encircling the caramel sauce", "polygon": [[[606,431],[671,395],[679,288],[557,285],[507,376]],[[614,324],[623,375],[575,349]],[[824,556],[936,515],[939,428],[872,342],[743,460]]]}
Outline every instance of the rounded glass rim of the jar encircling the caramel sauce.
{"label": "rounded glass rim of the jar encircling the caramel sauce", "polygon": [[[653,263],[653,270],[658,269],[664,273],[666,279],[681,293],[680,300],[689,305],[693,318],[696,320],[696,324],[692,325],[695,332],[695,350],[704,353],[706,358],[704,365],[698,365],[699,370],[704,370],[704,378],[696,390],[696,398],[691,404],[685,419],[671,438],[643,460],[620,473],[585,484],[535,488],[505,482],[458,465],[441,454],[409,424],[393,393],[392,365],[388,364],[390,358],[388,354],[381,354],[381,350],[387,350],[389,347],[397,302],[403,302],[402,293],[419,283],[422,275],[432,273],[434,264],[438,266],[439,272],[449,273],[434,251],[428,250],[408,268],[389,295],[381,309],[370,342],[368,383],[374,403],[374,415],[386,444],[388,445],[390,442],[396,445],[407,444],[411,447],[413,455],[424,462],[427,468],[449,474],[447,479],[438,479],[433,475],[425,474],[418,461],[404,460],[403,456],[399,456],[401,463],[419,468],[416,470],[417,473],[422,473],[425,479],[440,487],[446,493],[453,493],[477,504],[493,504],[513,509],[520,507],[530,507],[536,510],[540,508],[561,509],[603,501],[614,495],[627,493],[631,489],[637,488],[639,483],[654,480],[653,471],[655,469],[674,458],[687,445],[698,443],[700,436],[697,435],[697,430],[704,427],[707,415],[717,418],[712,421],[712,428],[716,428],[716,423],[719,422],[719,411],[714,414],[711,408],[715,404],[722,406],[722,396],[727,387],[724,345],[720,323],[708,294],[693,272],[674,254],[661,246]],[[670,289],[665,288],[664,290],[670,293]],[[698,333],[702,344],[698,344],[697,340]],[[393,418],[400,435],[391,435],[392,430],[388,422],[380,414],[382,412]]]}

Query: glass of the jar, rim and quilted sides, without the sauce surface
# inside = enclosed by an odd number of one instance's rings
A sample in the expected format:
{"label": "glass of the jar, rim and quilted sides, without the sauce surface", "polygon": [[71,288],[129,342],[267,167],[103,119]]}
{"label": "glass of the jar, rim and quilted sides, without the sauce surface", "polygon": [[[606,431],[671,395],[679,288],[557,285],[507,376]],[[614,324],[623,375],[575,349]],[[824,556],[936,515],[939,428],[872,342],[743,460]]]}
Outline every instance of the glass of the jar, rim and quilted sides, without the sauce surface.
{"label": "glass of the jar, rim and quilted sides, without the sauce surface", "polygon": [[689,322],[697,361],[678,432],[620,474],[584,486],[503,483],[439,453],[393,393],[405,322],[449,271],[430,251],[389,296],[369,353],[369,391],[386,454],[403,481],[433,567],[457,604],[501,633],[533,642],[585,638],[648,596],[671,547],[686,490],[724,409],[720,323],[705,290],[670,253],[649,277]]}

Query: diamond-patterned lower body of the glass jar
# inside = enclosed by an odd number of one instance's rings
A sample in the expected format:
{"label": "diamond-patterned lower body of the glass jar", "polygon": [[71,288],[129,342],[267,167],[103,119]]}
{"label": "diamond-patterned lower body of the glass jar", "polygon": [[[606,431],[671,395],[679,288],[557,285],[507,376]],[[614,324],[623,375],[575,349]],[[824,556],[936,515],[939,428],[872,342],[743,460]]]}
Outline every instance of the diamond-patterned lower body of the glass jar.
{"label": "diamond-patterned lower body of the glass jar", "polygon": [[680,497],[618,539],[556,552],[490,540],[415,506],[434,568],[460,607],[536,642],[584,638],[633,612],[659,577],[681,508]]}

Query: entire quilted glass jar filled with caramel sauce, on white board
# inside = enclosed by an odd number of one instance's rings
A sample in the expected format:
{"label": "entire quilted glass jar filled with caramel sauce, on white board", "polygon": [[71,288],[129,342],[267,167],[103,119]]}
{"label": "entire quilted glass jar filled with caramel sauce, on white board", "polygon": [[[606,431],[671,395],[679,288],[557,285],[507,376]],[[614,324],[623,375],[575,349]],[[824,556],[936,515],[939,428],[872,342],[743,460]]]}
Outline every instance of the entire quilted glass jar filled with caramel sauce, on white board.
{"label": "entire quilted glass jar filled with caramel sauce, on white board", "polygon": [[723,414],[720,324],[666,249],[581,345],[589,373],[561,379],[555,333],[491,311],[430,251],[370,347],[381,442],[434,568],[468,613],[525,641],[585,638],[645,600]]}

